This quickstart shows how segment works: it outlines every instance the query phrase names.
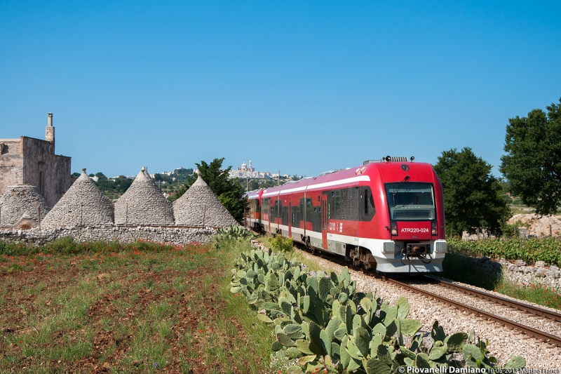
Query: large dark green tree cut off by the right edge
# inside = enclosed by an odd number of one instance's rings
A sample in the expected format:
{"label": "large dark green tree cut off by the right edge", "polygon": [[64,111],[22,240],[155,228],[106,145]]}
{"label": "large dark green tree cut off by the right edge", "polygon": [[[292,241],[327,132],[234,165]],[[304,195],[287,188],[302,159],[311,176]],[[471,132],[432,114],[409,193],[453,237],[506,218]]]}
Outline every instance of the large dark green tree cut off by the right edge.
{"label": "large dark green tree cut off by the right edge", "polygon": [[509,190],[540,215],[554,214],[561,202],[561,98],[548,112],[508,119],[499,170]]}

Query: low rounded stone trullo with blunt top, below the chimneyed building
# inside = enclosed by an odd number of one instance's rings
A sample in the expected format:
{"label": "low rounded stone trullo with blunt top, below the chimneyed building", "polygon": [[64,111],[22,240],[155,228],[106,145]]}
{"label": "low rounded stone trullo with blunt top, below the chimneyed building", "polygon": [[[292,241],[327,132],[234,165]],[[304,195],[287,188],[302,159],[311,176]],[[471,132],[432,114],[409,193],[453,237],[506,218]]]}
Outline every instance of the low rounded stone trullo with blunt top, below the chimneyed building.
{"label": "low rounded stone trullo with blunt top, below the chimneyed building", "polygon": [[50,211],[50,206],[35,186],[8,186],[4,194],[0,196],[0,227],[16,225],[24,215],[39,222],[39,208],[41,208],[41,219],[43,219]]}

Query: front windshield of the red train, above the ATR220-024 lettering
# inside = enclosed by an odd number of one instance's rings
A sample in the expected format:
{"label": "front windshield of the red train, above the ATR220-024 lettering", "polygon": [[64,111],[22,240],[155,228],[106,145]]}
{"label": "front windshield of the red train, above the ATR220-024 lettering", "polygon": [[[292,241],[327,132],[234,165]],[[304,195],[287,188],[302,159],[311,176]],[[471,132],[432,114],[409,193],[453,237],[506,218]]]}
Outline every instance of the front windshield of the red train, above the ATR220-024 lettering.
{"label": "front windshield of the red train, above the ATR220-024 lettering", "polygon": [[435,220],[434,188],[431,183],[386,183],[390,220]]}

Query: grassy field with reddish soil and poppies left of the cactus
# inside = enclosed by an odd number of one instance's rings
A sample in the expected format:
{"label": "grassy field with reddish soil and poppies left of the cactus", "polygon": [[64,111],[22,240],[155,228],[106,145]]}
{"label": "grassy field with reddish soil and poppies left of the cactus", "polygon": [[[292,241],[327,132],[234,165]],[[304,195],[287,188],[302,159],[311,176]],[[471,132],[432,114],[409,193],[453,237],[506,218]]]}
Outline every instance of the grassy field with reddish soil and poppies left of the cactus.
{"label": "grassy field with reddish soil and poppies left of the cactus", "polygon": [[2,242],[0,372],[269,371],[272,331],[229,292],[249,249]]}

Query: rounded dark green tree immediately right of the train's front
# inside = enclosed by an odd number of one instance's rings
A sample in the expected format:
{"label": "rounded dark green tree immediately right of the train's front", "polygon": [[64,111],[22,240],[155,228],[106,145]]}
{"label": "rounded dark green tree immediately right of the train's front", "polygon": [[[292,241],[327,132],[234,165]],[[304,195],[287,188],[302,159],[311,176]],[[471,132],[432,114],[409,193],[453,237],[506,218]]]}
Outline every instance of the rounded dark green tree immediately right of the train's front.
{"label": "rounded dark green tree immediately right of the train's front", "polygon": [[491,168],[468,147],[461,152],[450,149],[438,157],[434,169],[444,190],[446,222],[457,234],[473,234],[477,227],[483,227],[500,235],[511,217],[501,180],[490,174]]}

